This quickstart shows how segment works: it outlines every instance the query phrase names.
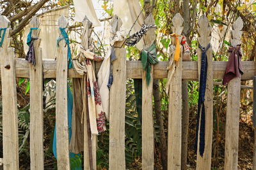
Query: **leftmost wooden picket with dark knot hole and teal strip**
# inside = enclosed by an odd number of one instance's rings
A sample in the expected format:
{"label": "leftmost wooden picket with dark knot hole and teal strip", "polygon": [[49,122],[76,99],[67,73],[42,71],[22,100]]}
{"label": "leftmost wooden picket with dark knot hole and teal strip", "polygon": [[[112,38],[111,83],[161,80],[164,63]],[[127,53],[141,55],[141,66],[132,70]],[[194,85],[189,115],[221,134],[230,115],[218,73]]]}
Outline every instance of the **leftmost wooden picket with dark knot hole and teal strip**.
{"label": "leftmost wooden picket with dark knot hole and teal strip", "polygon": [[[1,83],[3,100],[3,164],[6,170],[19,169],[19,139],[14,48],[10,41],[10,21],[0,15]],[[0,41],[0,42],[1,42]]]}

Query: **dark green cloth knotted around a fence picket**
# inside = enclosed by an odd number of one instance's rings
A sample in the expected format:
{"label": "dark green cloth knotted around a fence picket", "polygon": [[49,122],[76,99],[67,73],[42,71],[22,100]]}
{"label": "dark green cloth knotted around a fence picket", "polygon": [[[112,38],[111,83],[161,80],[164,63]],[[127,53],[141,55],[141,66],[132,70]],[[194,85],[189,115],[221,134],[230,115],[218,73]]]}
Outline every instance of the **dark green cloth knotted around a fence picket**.
{"label": "dark green cloth knotted around a fence picket", "polygon": [[142,50],[140,53],[141,63],[143,70],[146,71],[146,81],[147,85],[149,85],[151,77],[150,77],[150,70],[151,64],[157,64],[159,60],[157,60],[156,55],[156,45],[153,43],[148,50]]}

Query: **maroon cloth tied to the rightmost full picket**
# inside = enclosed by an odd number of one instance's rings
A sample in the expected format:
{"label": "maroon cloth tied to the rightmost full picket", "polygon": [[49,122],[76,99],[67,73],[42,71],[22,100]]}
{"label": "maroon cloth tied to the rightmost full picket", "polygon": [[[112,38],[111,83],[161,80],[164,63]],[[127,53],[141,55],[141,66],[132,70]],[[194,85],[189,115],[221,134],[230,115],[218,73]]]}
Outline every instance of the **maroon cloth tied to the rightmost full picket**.
{"label": "maroon cloth tied to the rightmost full picket", "polygon": [[241,74],[243,74],[243,67],[241,64],[241,45],[237,45],[236,47],[230,46],[228,48],[228,52],[230,52],[230,55],[228,57],[225,74],[223,76],[223,85],[226,85],[233,78],[241,77]]}

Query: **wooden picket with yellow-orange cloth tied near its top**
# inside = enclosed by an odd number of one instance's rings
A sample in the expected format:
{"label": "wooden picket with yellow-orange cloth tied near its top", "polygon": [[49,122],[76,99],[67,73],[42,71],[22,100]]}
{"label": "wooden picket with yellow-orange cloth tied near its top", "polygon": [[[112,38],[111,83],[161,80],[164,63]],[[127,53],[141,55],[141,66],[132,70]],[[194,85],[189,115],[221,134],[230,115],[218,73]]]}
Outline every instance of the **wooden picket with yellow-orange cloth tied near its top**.
{"label": "wooden picket with yellow-orange cloth tied near its top", "polygon": [[[183,18],[177,13],[173,19],[172,31],[181,34]],[[181,41],[179,37],[178,41]],[[172,38],[172,45],[176,45],[175,36]],[[173,60],[173,57],[172,59]],[[182,120],[182,46],[180,46],[180,59],[174,60],[175,71],[170,83],[169,108],[168,108],[168,169],[181,168],[181,120]]]}

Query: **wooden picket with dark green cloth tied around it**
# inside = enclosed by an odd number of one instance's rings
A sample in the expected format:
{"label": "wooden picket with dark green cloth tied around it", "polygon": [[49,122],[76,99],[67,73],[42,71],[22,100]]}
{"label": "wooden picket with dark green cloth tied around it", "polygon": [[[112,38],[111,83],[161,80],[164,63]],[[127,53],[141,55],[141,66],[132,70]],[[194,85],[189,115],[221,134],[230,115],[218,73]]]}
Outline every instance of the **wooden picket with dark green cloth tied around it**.
{"label": "wooden picket with dark green cloth tied around it", "polygon": [[[155,24],[152,14],[145,19],[145,24]],[[150,28],[144,36],[145,45],[143,50],[148,49],[156,39],[155,28]],[[142,76],[142,169],[154,169],[154,122],[153,122],[153,108],[152,108],[152,94],[153,94],[153,71],[154,65],[151,65],[150,83],[147,85],[146,71],[143,71]]]}

